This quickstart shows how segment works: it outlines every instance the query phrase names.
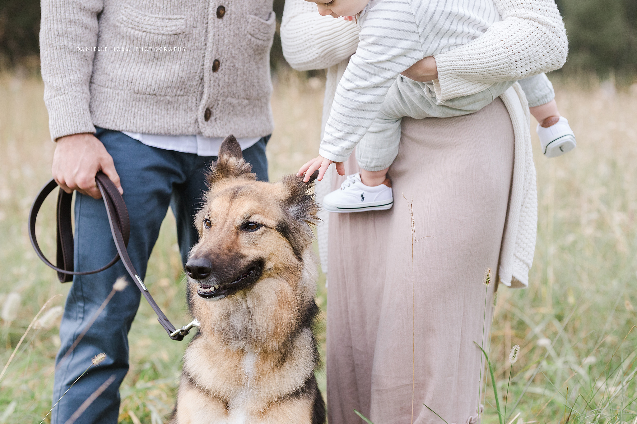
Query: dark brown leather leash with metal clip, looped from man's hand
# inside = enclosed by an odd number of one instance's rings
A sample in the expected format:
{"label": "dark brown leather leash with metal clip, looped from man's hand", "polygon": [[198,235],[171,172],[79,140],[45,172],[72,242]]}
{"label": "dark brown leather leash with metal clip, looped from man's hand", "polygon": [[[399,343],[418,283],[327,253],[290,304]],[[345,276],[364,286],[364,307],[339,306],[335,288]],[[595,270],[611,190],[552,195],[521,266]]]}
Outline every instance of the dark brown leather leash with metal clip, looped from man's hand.
{"label": "dark brown leather leash with metal clip, looped from man's hand", "polygon": [[47,182],[47,184],[40,189],[38,196],[36,196],[36,199],[33,201],[33,205],[31,205],[31,211],[29,212],[29,239],[31,240],[33,249],[35,249],[36,254],[45,264],[57,271],[57,278],[61,283],[73,281],[73,275],[96,274],[100,271],[104,271],[106,268],[110,268],[117,263],[118,260],[122,259],[124,267],[131,276],[132,281],[137,285],[141,294],[146,297],[150,307],[153,308],[157,314],[157,321],[159,321],[159,324],[164,327],[171,339],[179,341],[183,340],[183,336],[187,335],[192,327],[199,327],[199,322],[195,319],[192,320],[190,324],[184,325],[180,329],[175,329],[175,325],[171,324],[168,318],[166,318],[166,315],[164,315],[161,308],[159,308],[157,303],[155,303],[155,299],[150,296],[146,285],[141,280],[135,270],[135,267],[132,265],[131,258],[128,256],[126,247],[131,235],[131,221],[129,220],[124,198],[122,198],[122,195],[120,195],[117,188],[115,188],[115,184],[113,184],[113,182],[110,181],[103,172],[97,173],[95,181],[97,183],[97,188],[99,188],[99,192],[102,193],[102,199],[106,206],[106,214],[108,215],[108,223],[111,227],[111,234],[113,235],[113,241],[115,242],[115,247],[117,247],[118,254],[116,254],[108,264],[101,268],[97,268],[97,270],[73,270],[73,228],[71,228],[71,200],[73,199],[73,193],[68,194],[64,190],[60,189],[57,195],[56,213],[57,266],[48,261],[47,257],[45,257],[42,253],[42,250],[40,250],[38,240],[36,239],[36,218],[38,217],[39,209],[44,200],[47,198],[49,193],[57,187],[57,182],[55,182],[54,179],[51,179],[51,181]]}

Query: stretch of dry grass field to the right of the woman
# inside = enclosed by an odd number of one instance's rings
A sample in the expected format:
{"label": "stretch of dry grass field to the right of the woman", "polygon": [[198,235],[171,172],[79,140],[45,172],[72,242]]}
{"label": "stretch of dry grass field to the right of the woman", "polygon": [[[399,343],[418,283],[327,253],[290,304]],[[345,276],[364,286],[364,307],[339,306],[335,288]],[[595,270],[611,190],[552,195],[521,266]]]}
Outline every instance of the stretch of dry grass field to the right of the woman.
{"label": "stretch of dry grass field to the right of the woman", "polygon": [[576,423],[632,423],[637,411],[637,329],[631,332],[637,324],[637,97],[613,95],[595,81],[587,85],[556,85],[560,111],[578,140],[575,151],[547,160],[531,132],[539,201],[535,260],[529,289],[499,291],[491,357],[499,364],[500,393],[510,349],[522,346],[509,402],[546,353],[540,339],[554,342],[517,411],[508,412],[521,412],[523,421],[564,422],[570,414]]}

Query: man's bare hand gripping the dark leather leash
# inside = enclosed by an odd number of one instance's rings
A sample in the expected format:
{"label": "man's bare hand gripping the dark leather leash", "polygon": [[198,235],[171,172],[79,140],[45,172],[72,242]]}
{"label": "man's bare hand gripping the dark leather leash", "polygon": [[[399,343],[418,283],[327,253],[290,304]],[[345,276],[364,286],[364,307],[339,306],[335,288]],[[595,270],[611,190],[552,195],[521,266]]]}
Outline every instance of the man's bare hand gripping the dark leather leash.
{"label": "man's bare hand gripping the dark leather leash", "polygon": [[113,181],[120,195],[124,194],[113,158],[94,135],[82,133],[57,139],[51,173],[66,193],[77,190],[83,195],[101,198],[95,182],[95,175],[99,171]]}

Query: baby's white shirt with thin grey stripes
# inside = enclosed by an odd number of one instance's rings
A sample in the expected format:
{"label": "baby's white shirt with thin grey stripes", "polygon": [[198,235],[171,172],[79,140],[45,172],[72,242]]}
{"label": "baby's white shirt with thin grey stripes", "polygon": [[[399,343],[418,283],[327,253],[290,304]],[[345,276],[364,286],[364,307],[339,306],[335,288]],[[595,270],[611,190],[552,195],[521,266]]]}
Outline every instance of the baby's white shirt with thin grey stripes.
{"label": "baby's white shirt with thin grey stripes", "polygon": [[492,0],[371,0],[357,18],[358,48],[336,89],[319,154],[347,160],[401,72],[499,20]]}

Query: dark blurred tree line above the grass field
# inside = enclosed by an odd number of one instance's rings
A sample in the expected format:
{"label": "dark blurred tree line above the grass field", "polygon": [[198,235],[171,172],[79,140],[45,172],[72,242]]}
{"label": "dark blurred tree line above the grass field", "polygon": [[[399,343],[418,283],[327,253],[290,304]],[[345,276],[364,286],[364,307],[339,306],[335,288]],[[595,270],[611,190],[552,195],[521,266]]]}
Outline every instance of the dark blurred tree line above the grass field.
{"label": "dark blurred tree line above the grass field", "polygon": [[[283,3],[275,0],[279,19]],[[570,41],[565,72],[596,71],[605,76],[609,69],[627,74],[637,71],[637,0],[557,0],[557,6]],[[0,1],[0,67],[34,62],[39,18],[38,0]],[[277,31],[273,65],[282,60]]]}

